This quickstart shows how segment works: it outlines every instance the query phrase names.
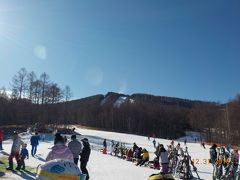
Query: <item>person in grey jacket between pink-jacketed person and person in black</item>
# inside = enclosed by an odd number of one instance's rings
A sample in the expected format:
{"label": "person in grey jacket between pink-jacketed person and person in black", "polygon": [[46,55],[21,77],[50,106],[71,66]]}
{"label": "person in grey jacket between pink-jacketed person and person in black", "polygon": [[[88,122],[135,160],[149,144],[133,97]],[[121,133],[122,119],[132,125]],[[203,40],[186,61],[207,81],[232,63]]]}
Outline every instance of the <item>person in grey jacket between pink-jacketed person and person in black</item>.
{"label": "person in grey jacket between pink-jacketed person and person in black", "polygon": [[74,163],[78,165],[79,160],[79,154],[82,151],[82,144],[77,140],[77,137],[75,134],[71,136],[71,142],[68,143],[68,148],[73,154]]}

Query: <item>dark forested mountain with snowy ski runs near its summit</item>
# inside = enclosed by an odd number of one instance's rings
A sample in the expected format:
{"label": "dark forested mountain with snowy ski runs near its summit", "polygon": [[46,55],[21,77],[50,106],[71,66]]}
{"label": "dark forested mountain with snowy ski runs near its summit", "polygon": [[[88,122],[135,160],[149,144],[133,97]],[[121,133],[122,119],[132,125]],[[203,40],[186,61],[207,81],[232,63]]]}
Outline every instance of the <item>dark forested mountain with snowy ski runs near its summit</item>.
{"label": "dark forested mountain with snowy ski runs near its summit", "polygon": [[193,130],[205,132],[208,141],[221,142],[237,142],[239,110],[239,98],[227,105],[114,92],[45,104],[35,104],[23,98],[0,98],[1,125],[81,124],[170,139],[184,135],[186,130]]}

